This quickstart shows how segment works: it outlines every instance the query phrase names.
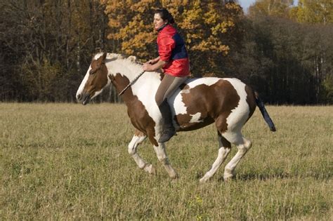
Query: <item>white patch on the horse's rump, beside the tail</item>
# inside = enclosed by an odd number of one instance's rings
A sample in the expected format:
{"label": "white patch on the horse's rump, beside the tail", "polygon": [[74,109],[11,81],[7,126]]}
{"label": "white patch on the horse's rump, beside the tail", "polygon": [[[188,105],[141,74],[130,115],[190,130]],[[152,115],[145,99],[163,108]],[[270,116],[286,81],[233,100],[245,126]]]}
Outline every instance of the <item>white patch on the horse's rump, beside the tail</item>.
{"label": "white patch on the horse's rump, beside the tail", "polygon": [[249,105],[247,104],[247,92],[245,91],[246,85],[238,79],[223,80],[229,81],[240,96],[240,101],[238,102],[237,107],[231,111],[227,118],[228,130],[240,131],[249,117]]}

